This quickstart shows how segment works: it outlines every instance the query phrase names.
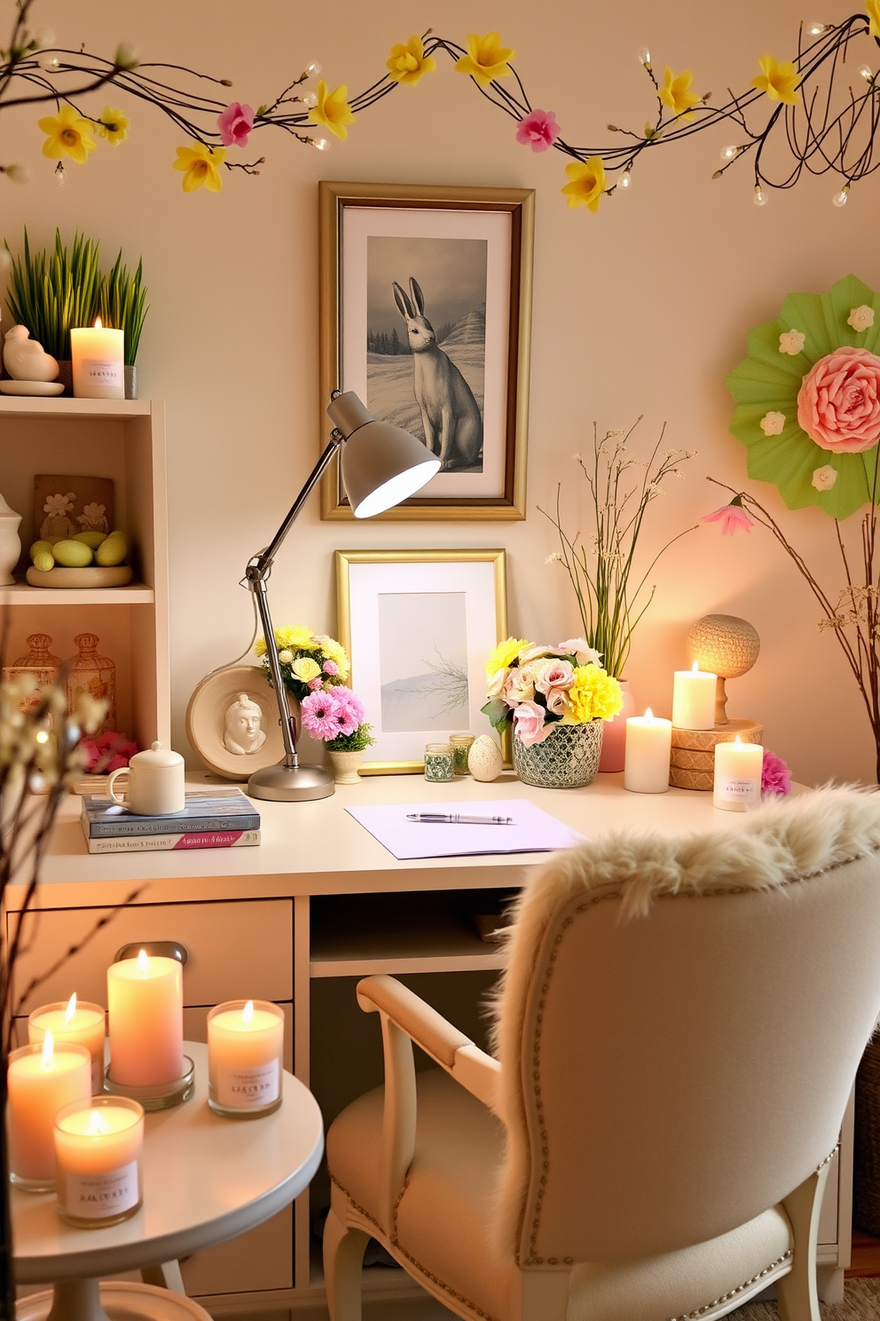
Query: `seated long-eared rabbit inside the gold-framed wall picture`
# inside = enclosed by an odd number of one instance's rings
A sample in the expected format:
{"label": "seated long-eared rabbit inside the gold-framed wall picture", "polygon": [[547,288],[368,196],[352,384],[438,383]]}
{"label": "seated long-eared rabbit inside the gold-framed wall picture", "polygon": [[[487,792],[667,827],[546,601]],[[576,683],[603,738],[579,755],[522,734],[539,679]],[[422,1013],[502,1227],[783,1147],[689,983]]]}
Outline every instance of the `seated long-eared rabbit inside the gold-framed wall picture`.
{"label": "seated long-eared rabbit inside the gold-framed wall picture", "polygon": [[483,419],[471,387],[455,363],[437,345],[434,328],[425,316],[425,297],[410,276],[408,297],[396,281],[394,303],[406,322],[406,342],[413,354],[413,387],[422,411],[425,443],[439,456],[441,472],[475,468],[483,450]]}

